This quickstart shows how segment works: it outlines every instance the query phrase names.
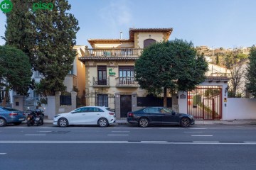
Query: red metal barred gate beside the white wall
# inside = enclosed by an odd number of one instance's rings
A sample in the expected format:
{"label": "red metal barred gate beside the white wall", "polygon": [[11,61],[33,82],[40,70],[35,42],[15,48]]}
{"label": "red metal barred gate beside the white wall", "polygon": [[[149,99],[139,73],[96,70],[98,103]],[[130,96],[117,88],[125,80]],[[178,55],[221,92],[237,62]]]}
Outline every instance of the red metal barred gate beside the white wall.
{"label": "red metal barred gate beside the white wall", "polygon": [[188,114],[197,119],[222,118],[221,86],[198,86],[188,91]]}

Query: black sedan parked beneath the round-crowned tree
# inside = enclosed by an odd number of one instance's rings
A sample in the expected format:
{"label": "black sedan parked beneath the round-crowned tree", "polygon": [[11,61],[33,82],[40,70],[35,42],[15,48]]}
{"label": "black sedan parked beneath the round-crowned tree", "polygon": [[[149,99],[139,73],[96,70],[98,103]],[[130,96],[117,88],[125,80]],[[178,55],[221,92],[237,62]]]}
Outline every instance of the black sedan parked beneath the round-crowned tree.
{"label": "black sedan parked beneath the round-crowned tree", "polygon": [[193,115],[177,113],[163,107],[142,108],[139,111],[129,112],[127,121],[143,128],[149,125],[181,125],[181,127],[187,128],[189,125],[195,124]]}

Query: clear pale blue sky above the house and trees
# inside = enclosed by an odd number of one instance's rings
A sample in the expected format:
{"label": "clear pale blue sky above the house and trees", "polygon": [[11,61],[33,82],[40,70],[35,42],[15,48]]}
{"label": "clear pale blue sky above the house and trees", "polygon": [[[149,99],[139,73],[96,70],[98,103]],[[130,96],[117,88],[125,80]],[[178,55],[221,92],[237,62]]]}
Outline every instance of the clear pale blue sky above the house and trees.
{"label": "clear pale blue sky above the house and trees", "polygon": [[[2,1],[2,0],[0,0]],[[38,0],[39,1],[39,0]],[[43,3],[43,0],[41,0]],[[173,28],[169,40],[211,48],[256,44],[255,0],[69,0],[80,30],[77,45],[90,38],[129,39],[129,28]],[[0,36],[6,16],[0,13]],[[0,45],[4,40],[0,39]]]}

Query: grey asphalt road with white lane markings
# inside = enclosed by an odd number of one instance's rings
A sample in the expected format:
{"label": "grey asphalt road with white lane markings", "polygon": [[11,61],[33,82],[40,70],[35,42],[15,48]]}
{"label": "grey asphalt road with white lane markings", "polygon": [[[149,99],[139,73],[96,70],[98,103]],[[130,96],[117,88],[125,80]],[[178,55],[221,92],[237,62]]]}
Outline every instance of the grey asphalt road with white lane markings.
{"label": "grey asphalt road with white lane markings", "polygon": [[255,169],[255,125],[9,125],[0,169]]}

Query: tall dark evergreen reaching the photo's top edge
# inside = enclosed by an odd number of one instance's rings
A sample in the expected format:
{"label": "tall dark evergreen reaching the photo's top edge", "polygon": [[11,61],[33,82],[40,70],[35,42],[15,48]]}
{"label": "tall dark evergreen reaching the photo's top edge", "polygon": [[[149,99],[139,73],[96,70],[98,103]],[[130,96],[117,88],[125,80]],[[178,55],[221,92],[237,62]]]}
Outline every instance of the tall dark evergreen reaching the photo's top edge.
{"label": "tall dark evergreen reaching the photo's top edge", "polygon": [[21,7],[16,5],[21,1],[12,2],[14,8],[6,15],[7,45],[28,54],[33,69],[43,74],[41,85],[46,94],[55,95],[55,91],[65,90],[63,81],[75,59],[73,45],[79,30],[78,21],[67,12],[70,4],[67,0],[47,0],[44,3],[53,2],[53,9],[33,11],[32,0]]}

